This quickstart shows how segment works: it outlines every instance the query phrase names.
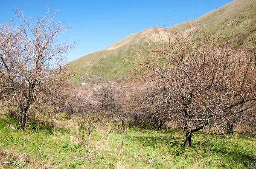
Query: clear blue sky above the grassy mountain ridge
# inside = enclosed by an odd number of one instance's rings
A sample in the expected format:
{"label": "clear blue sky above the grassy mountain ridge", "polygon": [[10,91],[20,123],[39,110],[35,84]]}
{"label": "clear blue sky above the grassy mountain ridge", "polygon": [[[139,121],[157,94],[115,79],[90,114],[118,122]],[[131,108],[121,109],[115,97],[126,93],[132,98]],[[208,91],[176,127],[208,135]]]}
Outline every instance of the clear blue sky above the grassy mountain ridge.
{"label": "clear blue sky above the grassy mountain ridge", "polygon": [[0,24],[15,18],[12,9],[26,16],[44,16],[60,9],[57,20],[71,27],[60,39],[79,39],[69,51],[68,61],[105,49],[129,34],[143,29],[193,20],[232,0],[1,0]]}

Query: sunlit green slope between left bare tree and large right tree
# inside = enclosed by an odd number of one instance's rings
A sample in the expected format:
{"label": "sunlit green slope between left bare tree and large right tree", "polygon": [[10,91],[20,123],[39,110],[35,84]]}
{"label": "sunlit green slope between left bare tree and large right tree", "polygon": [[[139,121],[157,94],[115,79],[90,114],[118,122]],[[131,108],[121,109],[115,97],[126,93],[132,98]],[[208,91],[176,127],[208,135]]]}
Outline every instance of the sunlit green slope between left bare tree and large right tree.
{"label": "sunlit green slope between left bare tree and large right tree", "polygon": [[114,43],[108,48],[88,54],[70,62],[76,74],[76,80],[87,79],[111,80],[123,79],[134,72],[134,57],[142,51],[147,42],[157,42],[158,34],[163,28],[148,28]]}

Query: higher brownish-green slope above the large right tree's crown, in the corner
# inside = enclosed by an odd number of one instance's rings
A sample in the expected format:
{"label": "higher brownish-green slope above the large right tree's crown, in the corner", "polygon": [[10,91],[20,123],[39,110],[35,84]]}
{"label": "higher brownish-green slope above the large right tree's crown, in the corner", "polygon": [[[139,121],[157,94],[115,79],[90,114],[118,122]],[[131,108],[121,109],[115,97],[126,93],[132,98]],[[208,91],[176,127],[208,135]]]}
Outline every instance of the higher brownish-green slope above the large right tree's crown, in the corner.
{"label": "higher brownish-green slope above the large right tree's crown, in the corner", "polygon": [[234,0],[198,19],[170,27],[168,31],[175,28],[179,32],[188,32],[190,26],[195,30],[227,35],[230,44],[237,48],[250,39],[249,28],[255,34],[256,0]]}

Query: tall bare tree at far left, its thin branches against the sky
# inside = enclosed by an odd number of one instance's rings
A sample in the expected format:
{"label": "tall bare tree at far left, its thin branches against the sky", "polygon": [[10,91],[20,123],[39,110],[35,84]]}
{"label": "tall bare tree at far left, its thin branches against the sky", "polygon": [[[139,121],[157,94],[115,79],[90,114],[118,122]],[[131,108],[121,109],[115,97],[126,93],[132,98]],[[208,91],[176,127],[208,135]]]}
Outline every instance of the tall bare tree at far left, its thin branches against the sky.
{"label": "tall bare tree at far left, its thin branches against the sky", "polygon": [[9,104],[18,112],[20,127],[26,129],[41,93],[49,92],[49,86],[55,83],[47,79],[61,72],[67,50],[73,44],[57,43],[57,36],[68,29],[64,22],[55,21],[58,10],[52,16],[48,10],[36,20],[26,18],[22,10],[14,12],[24,24],[1,25],[0,90],[3,96],[9,96]]}

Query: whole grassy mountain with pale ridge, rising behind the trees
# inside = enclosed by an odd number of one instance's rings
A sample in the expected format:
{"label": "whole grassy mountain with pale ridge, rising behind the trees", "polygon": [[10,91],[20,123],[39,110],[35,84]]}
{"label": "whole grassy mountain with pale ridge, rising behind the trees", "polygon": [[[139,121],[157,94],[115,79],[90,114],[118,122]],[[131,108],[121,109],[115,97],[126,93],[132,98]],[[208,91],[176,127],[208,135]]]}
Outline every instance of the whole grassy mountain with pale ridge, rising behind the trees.
{"label": "whole grassy mountain with pale ridge, rising behind the trees", "polygon": [[[198,19],[167,28],[172,32],[186,33],[190,27],[201,31],[224,33],[230,45],[239,48],[249,41],[249,27],[256,35],[256,0],[234,0]],[[156,33],[157,32],[157,33]],[[131,34],[106,49],[82,56],[69,63],[75,72],[73,81],[98,83],[112,79],[125,79],[134,73],[134,65],[129,63],[145,49],[147,42],[158,43],[158,34],[163,37],[164,28],[148,28]]]}

